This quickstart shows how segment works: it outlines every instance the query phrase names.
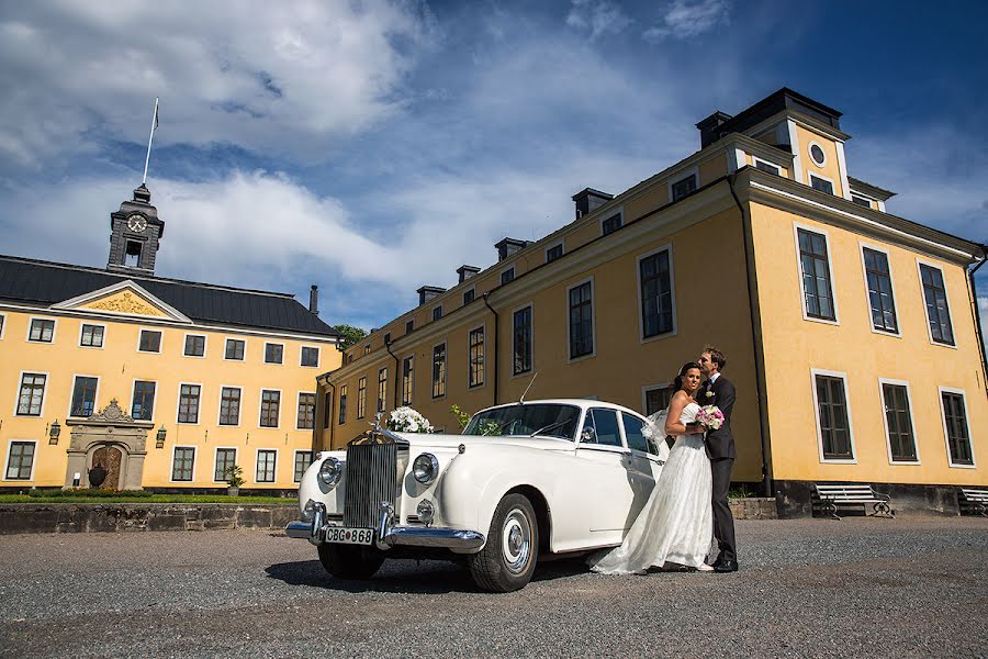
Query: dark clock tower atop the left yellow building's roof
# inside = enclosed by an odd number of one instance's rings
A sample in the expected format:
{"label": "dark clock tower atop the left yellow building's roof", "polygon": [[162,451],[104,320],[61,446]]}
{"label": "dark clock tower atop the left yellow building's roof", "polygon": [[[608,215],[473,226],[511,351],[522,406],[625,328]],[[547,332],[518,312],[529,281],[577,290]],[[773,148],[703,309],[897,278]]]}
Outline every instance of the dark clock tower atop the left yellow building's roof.
{"label": "dark clock tower atop the left yellow building's roof", "polygon": [[110,259],[108,270],[153,275],[158,241],[165,235],[165,222],[150,204],[150,191],[141,183],[134,199],[110,213]]}

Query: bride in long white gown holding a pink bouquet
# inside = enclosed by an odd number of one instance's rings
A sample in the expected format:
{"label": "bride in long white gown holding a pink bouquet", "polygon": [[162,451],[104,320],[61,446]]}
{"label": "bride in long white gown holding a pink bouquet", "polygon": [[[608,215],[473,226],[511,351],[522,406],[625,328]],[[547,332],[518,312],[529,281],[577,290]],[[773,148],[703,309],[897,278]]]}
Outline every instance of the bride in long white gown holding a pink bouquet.
{"label": "bride in long white gown holding a pink bouquet", "polygon": [[[664,428],[665,434],[676,437],[676,443],[625,541],[592,556],[588,562],[593,571],[642,573],[667,563],[701,571],[714,569],[704,562],[714,535],[710,460],[703,426],[693,423],[700,409],[693,399],[700,378],[698,364],[691,361],[680,369]],[[656,435],[662,436],[661,428]]]}

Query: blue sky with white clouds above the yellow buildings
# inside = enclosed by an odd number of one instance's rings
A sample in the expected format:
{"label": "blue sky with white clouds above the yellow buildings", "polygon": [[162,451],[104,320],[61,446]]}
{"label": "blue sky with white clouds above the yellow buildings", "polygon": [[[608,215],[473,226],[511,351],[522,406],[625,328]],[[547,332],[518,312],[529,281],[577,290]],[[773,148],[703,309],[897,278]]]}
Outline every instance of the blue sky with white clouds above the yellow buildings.
{"label": "blue sky with white clouds above the yellow buildings", "polygon": [[104,266],[158,96],[157,273],[317,283],[324,320],[380,326],[783,86],[844,112],[889,212],[988,242],[986,24],[970,2],[4,3],[0,253]]}

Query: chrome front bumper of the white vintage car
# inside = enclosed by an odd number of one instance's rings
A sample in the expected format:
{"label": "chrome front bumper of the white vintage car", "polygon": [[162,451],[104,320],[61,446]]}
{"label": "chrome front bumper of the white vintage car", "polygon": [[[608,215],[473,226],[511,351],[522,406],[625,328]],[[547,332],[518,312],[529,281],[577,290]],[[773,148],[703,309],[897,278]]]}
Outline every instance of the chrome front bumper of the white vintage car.
{"label": "chrome front bumper of the white vintage car", "polygon": [[[322,545],[329,524],[326,518],[326,506],[317,503],[312,522],[289,522],[284,534],[290,538],[304,538],[313,545]],[[460,551],[479,550],[484,546],[484,534],[460,528],[439,528],[435,526],[394,526],[394,510],[390,504],[381,505],[381,518],[374,529],[379,549],[394,546],[439,547]]]}

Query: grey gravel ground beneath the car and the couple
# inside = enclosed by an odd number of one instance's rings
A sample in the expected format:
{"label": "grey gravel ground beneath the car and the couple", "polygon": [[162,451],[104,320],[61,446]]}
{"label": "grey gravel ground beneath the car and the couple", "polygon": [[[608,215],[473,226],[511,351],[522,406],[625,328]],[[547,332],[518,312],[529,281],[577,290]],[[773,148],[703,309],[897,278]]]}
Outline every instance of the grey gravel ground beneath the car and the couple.
{"label": "grey gravel ground beneath the car and the couple", "polygon": [[739,522],[741,571],[326,574],[270,532],[0,536],[0,657],[988,657],[988,520]]}

